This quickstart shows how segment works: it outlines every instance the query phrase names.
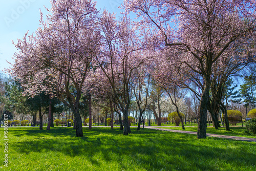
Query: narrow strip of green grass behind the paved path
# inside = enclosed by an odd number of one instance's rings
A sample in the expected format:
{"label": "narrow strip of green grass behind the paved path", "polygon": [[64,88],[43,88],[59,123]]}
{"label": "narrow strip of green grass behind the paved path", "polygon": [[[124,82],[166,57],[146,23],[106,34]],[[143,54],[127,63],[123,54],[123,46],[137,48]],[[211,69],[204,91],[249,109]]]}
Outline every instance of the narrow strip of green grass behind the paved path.
{"label": "narrow strip of green grass behind the paved path", "polygon": [[[170,130],[182,130],[182,127],[159,127],[164,129]],[[212,126],[207,126],[207,133],[209,134],[218,134],[218,135],[230,135],[230,136],[237,136],[237,137],[247,137],[247,138],[256,138],[254,135],[248,135],[245,133],[246,127],[230,127],[231,131],[226,131],[225,127],[219,127],[219,130],[216,130]],[[185,127],[185,131],[193,131],[197,132],[197,127]]]}

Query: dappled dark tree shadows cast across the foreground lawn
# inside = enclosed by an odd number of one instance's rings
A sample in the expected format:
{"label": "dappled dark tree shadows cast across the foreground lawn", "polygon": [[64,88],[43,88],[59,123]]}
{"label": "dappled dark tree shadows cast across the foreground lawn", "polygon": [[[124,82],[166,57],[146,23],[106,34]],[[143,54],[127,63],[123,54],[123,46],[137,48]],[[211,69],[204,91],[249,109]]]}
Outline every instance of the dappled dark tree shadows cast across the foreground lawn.
{"label": "dappled dark tree shadows cast across the foreground lawn", "polygon": [[[121,167],[127,168],[123,159],[147,170],[219,170],[225,164],[235,167],[255,165],[254,144],[209,138],[197,140],[195,135],[177,134],[156,130],[135,131],[131,136],[122,136],[119,129],[94,128],[84,130],[84,137],[75,137],[73,129],[52,129],[42,133],[40,130],[26,130],[24,135],[37,134],[36,139],[14,142],[12,148],[18,153],[30,154],[53,151],[70,157],[83,156],[93,164],[100,165],[94,157],[101,155],[104,162],[120,160]],[[46,138],[41,137],[46,134]],[[17,133],[18,136],[18,133]],[[58,137],[58,138],[55,138]],[[196,143],[194,143],[196,142]],[[237,145],[228,147],[229,144]],[[252,152],[244,150],[249,145]],[[215,162],[221,160],[222,164]]]}

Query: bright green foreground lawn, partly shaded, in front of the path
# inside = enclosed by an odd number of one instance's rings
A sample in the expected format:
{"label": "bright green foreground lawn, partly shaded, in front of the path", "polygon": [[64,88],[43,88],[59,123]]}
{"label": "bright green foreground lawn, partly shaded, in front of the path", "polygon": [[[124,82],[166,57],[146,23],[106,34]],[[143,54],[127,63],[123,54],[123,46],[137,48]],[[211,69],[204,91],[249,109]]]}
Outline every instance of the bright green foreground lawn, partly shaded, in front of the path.
{"label": "bright green foreground lawn, partly shaded, in front of the path", "polygon": [[9,128],[9,163],[1,138],[0,170],[256,170],[254,142],[135,127],[129,136],[118,128],[83,129],[77,138],[72,127]]}

